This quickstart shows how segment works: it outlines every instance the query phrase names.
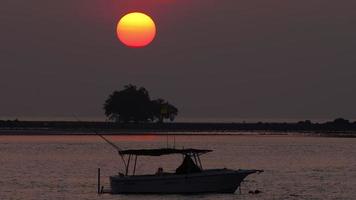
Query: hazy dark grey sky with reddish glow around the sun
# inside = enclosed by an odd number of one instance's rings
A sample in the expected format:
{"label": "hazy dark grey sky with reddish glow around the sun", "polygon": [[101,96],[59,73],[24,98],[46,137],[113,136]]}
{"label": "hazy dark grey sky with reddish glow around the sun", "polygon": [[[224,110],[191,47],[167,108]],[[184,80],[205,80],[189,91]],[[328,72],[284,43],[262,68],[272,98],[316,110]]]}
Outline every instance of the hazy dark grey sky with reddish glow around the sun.
{"label": "hazy dark grey sky with reddish glow around the sun", "polygon": [[[2,0],[0,119],[104,119],[125,84],[180,118],[356,118],[355,0]],[[130,49],[116,24],[153,17]]]}

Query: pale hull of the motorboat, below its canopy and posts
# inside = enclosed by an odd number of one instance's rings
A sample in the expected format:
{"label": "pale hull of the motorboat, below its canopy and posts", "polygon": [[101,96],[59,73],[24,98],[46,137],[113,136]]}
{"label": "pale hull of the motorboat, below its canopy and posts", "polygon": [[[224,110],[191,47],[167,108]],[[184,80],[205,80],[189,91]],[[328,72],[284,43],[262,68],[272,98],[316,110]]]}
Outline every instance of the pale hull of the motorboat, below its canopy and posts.
{"label": "pale hull of the motorboat, below its canopy and posts", "polygon": [[258,170],[204,170],[191,174],[111,176],[112,194],[234,193],[246,176]]}

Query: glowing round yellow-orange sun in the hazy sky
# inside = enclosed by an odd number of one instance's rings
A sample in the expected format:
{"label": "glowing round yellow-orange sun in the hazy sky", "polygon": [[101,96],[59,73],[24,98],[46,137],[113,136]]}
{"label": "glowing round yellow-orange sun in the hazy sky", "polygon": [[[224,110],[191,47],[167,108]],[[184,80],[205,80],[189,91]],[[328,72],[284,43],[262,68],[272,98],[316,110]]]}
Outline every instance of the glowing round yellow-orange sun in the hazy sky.
{"label": "glowing round yellow-orange sun in the hazy sky", "polygon": [[155,38],[156,25],[148,15],[133,12],[120,19],[116,32],[126,46],[145,47]]}

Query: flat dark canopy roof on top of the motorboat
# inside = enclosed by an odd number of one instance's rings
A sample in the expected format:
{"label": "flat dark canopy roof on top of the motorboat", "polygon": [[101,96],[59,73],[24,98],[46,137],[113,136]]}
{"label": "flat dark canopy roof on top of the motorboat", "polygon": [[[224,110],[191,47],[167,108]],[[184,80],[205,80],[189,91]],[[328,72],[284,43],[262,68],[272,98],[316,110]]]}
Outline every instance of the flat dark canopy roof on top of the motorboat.
{"label": "flat dark canopy roof on top of the motorboat", "polygon": [[170,154],[205,154],[212,152],[208,149],[172,149],[172,148],[161,148],[161,149],[128,149],[119,151],[120,155],[136,155],[136,156],[163,156]]}

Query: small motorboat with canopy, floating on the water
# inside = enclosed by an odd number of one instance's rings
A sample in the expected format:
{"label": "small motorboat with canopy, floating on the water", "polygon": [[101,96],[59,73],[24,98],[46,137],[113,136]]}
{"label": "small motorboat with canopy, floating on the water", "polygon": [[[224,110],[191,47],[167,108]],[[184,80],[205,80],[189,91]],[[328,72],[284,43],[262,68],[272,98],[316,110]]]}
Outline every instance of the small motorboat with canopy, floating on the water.
{"label": "small motorboat with canopy, floating on the water", "polygon": [[[193,194],[234,193],[250,174],[263,170],[203,169],[200,155],[211,152],[204,149],[136,149],[121,150],[125,174],[110,177],[112,194]],[[182,164],[174,173],[158,168],[152,175],[135,175],[138,156],[163,156],[182,154]],[[128,156],[125,160],[124,156]],[[129,175],[130,163],[134,162]]]}

